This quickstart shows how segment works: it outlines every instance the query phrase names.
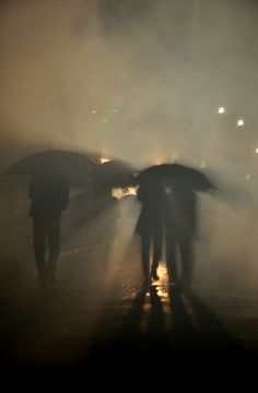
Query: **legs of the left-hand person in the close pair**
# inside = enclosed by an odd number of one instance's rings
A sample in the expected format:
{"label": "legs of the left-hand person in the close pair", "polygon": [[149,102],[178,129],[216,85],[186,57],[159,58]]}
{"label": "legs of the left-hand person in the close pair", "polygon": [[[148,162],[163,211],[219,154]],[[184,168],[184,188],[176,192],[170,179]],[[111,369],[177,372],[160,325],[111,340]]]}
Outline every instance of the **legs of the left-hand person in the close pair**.
{"label": "legs of the left-hand person in the close pair", "polygon": [[[142,270],[145,279],[152,277],[157,279],[156,269],[159,266],[159,262],[162,257],[162,239],[163,239],[163,230],[162,228],[153,228],[152,230],[148,230],[141,236],[141,257],[142,257]],[[152,264],[150,267],[150,251],[151,245],[153,243],[153,258]]]}

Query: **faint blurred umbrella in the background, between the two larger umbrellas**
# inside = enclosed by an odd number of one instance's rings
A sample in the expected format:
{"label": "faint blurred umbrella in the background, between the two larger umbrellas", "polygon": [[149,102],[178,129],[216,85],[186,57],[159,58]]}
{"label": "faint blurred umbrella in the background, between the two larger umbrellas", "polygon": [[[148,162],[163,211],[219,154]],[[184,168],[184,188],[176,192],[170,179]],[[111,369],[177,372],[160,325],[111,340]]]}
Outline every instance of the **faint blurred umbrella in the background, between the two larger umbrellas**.
{"label": "faint blurred umbrella in the background, between the two larger umbrellas", "polygon": [[136,169],[122,160],[109,160],[96,165],[90,171],[92,187],[108,190],[112,188],[126,188],[136,184]]}

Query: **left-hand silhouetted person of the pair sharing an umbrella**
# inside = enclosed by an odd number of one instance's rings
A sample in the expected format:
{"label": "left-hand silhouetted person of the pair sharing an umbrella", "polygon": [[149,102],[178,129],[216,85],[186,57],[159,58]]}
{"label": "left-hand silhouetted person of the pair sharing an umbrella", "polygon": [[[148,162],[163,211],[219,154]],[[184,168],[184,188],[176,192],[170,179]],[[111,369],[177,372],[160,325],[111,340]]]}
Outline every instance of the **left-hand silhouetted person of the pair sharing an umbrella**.
{"label": "left-hand silhouetted person of the pair sharing an umbrella", "polygon": [[[166,198],[165,191],[157,181],[151,177],[141,180],[138,200],[142,203],[142,207],[136,233],[141,236],[141,258],[145,284],[150,284],[151,278],[159,279],[156,269],[162,257],[164,198]],[[150,271],[152,245],[153,258]]]}

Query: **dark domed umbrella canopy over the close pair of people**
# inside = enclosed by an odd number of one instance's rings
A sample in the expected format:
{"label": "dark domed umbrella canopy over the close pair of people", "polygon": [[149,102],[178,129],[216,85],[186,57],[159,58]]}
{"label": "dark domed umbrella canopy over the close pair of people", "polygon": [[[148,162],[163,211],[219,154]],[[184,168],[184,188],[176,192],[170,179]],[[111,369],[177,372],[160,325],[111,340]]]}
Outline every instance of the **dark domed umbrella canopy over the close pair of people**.
{"label": "dark domed umbrella canopy over the close pair of people", "polygon": [[159,181],[172,182],[177,187],[187,187],[200,191],[214,188],[210,179],[200,170],[180,164],[154,165],[142,170],[137,179],[140,183],[148,178],[155,178]]}

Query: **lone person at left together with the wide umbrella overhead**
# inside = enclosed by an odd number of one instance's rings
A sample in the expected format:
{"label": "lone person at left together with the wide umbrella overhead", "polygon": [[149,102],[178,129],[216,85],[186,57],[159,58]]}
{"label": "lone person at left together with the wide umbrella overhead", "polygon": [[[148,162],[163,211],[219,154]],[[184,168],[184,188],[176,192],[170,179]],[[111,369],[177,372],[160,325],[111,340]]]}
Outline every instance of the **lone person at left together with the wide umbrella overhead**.
{"label": "lone person at left together with the wide umbrella overhead", "polygon": [[[69,189],[84,187],[89,171],[95,166],[94,157],[86,152],[49,148],[21,158],[4,172],[4,176],[32,176],[30,216],[33,217],[35,259],[42,287],[56,281],[61,213],[69,203]],[[47,262],[46,243],[49,247]]]}

